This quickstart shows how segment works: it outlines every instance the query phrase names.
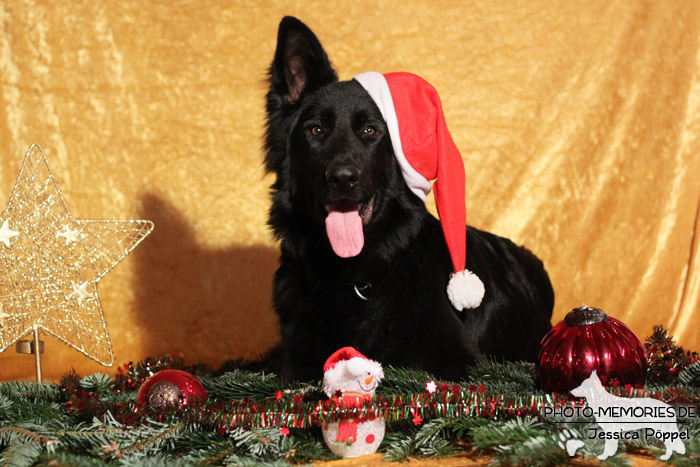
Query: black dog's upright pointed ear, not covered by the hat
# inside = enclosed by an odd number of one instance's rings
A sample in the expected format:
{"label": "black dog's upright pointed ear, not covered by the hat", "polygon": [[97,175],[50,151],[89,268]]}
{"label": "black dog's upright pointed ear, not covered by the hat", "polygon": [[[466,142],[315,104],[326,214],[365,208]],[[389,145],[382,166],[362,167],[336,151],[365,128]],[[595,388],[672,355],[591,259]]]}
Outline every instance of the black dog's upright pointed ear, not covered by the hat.
{"label": "black dog's upright pointed ear, not covered by the hat", "polygon": [[294,104],[306,92],[337,80],[326,52],[311,29],[294,17],[284,17],[270,67],[270,91]]}

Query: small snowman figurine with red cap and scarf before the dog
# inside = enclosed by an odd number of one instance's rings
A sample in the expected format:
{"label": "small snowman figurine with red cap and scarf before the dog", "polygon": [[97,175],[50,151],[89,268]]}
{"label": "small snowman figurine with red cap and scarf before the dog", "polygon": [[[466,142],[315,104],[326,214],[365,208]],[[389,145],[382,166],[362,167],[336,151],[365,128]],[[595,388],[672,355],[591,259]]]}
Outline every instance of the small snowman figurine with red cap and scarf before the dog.
{"label": "small snowman figurine with red cap and scarf before the dog", "polygon": [[[353,347],[343,347],[323,366],[323,390],[341,407],[362,407],[384,378],[382,366]],[[384,439],[384,419],[341,419],[323,427],[323,439],[333,454],[359,457],[373,454]]]}

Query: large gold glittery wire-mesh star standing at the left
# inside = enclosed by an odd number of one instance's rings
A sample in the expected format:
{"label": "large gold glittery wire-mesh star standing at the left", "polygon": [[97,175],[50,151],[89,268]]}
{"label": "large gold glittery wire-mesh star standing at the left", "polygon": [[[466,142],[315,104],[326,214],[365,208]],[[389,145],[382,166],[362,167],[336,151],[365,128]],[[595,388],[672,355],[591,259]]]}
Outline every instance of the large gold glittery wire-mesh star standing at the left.
{"label": "large gold glittery wire-mesh star standing at the left", "polygon": [[0,352],[43,329],[114,361],[97,283],[153,230],[144,220],[75,219],[37,144],[0,214]]}

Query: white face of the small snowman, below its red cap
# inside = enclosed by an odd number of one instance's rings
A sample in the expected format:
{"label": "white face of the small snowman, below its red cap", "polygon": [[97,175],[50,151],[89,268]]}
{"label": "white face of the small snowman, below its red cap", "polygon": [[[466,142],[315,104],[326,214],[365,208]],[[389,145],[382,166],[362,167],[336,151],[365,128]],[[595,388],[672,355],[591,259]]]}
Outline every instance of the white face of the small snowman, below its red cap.
{"label": "white face of the small snowman, below its red cap", "polygon": [[338,391],[372,394],[384,378],[382,366],[364,358],[351,358],[338,362],[323,376],[323,389],[328,397]]}

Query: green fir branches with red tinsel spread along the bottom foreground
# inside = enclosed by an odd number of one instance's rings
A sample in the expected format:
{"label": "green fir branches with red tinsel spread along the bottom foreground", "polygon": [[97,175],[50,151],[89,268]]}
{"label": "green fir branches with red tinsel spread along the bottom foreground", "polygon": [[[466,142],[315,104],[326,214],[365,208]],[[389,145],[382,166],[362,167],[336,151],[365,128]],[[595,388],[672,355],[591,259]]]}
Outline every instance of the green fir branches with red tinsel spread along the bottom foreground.
{"label": "green fir branches with red tinsel spread along the bottom foreground", "polygon": [[[675,346],[660,327],[647,345],[645,389],[609,390],[700,406],[697,354]],[[136,407],[140,384],[168,368],[197,374],[209,400],[162,412]],[[580,406],[581,401],[539,391],[532,364],[484,361],[464,381],[435,381],[433,391],[426,386],[431,381],[422,371],[386,367],[375,400],[356,409],[360,416],[385,417],[387,434],[379,450],[386,460],[486,455],[494,464],[567,465],[568,440],[585,440],[577,455],[591,460],[603,450],[602,440],[587,437],[594,422],[566,424],[542,416],[542,407]],[[274,374],[245,370],[215,375],[184,367],[181,356],[165,355],[130,363],[116,378],[70,373],[60,384],[0,383],[0,466],[254,466],[332,460],[336,457],[318,425],[341,412],[325,401],[320,382],[285,384]],[[698,465],[700,419],[679,421],[679,429],[687,429],[691,439],[685,441],[686,454],[674,454],[672,463]],[[621,442],[618,453],[603,464],[629,465],[625,452],[658,457],[664,450],[655,440]]]}

